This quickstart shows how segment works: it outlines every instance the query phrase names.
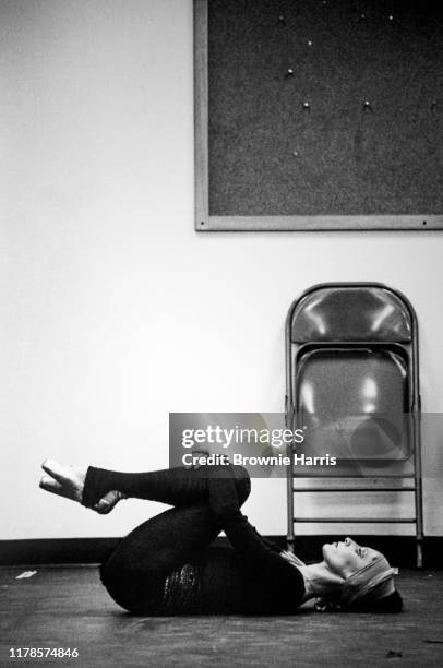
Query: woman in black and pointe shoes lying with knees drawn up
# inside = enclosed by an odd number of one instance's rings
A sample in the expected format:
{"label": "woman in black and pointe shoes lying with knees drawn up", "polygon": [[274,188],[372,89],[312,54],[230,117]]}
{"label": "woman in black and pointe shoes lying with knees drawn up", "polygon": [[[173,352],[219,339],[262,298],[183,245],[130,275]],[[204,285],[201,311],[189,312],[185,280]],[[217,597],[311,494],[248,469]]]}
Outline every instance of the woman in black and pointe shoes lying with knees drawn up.
{"label": "woman in black and pointe shoes lying with knees drawn up", "polygon": [[[380,552],[346,538],[306,565],[252,527],[239,466],[117,473],[47,460],[40,487],[108,513],[129,497],[173,505],[120,540],[101,565],[110,596],[145,615],[291,615],[314,597],[344,610],[399,612],[394,570]],[[224,530],[232,549],[209,547]]]}

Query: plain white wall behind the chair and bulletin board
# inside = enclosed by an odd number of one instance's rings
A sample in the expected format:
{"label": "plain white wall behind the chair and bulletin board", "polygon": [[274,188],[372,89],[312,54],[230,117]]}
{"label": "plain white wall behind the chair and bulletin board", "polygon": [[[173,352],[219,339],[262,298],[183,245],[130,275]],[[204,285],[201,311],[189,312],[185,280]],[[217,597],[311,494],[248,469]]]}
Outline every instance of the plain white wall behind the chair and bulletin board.
{"label": "plain white wall behind the chair and bulletin board", "polygon": [[[161,467],[170,410],[280,410],[285,314],[313,283],[403,290],[443,410],[442,234],[193,231],[191,0],[2,0],[0,44],[0,538],[156,512],[95,515],[40,491],[39,464]],[[256,487],[247,513],[284,533],[285,481]],[[427,497],[442,535],[441,484]]]}

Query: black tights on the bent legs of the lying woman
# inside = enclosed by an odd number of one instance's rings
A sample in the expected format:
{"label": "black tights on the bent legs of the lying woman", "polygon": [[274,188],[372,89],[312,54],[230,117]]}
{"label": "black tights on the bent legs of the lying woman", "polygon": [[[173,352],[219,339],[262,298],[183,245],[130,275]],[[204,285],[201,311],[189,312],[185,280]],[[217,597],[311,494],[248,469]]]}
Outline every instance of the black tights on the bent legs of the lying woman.
{"label": "black tights on the bent legs of the lying woman", "polygon": [[[101,565],[104,585],[123,608],[161,612],[168,577],[173,573],[194,577],[185,564],[197,560],[220,532],[208,505],[205,468],[125,474],[89,467],[83,492],[85,505],[93,505],[116,489],[128,497],[175,506],[133,529]],[[227,473],[223,469],[226,467],[219,467],[220,477]],[[250,493],[250,478],[240,466],[232,466],[231,472],[241,505]]]}

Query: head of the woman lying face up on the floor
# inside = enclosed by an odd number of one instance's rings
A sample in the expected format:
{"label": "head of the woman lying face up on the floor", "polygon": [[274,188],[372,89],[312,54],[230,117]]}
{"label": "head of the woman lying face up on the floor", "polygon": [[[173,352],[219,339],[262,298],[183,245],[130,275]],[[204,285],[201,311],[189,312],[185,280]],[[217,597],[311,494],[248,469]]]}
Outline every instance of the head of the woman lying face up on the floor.
{"label": "head of the woman lying face up on the floor", "polygon": [[324,564],[332,575],[331,597],[342,609],[356,612],[402,610],[402,597],[394,585],[395,570],[381,552],[362,547],[351,538],[326,544],[322,551]]}

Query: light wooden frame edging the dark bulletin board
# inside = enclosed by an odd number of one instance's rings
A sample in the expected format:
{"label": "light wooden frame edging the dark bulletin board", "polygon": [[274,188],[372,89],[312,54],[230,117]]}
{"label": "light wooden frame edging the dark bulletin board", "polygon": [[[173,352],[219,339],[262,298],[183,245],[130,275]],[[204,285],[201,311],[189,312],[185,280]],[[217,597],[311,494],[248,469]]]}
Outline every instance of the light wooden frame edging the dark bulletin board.
{"label": "light wooden frame edging the dark bulletin board", "polygon": [[443,215],[213,216],[209,212],[208,2],[194,2],[195,229],[197,231],[439,230]]}

